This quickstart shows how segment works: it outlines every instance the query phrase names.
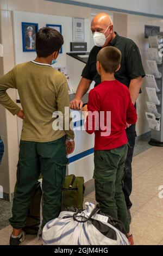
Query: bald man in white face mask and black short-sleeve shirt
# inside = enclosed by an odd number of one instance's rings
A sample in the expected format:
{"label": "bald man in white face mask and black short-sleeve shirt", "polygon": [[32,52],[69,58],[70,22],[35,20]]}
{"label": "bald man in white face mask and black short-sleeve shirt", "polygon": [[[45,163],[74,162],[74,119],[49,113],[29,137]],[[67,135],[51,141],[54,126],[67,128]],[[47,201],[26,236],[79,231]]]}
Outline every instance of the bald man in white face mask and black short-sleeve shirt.
{"label": "bald man in white face mask and black short-sleeve shirt", "polygon": [[[134,41],[124,38],[114,32],[111,17],[106,13],[99,13],[94,17],[91,23],[91,31],[95,46],[92,48],[88,62],[82,72],[82,79],[80,80],[76,97],[70,103],[71,108],[76,110],[82,108],[82,97],[87,90],[89,90],[92,81],[95,81],[95,86],[98,86],[98,84],[101,83],[101,77],[98,75],[96,69],[96,59],[98,52],[105,46],[114,46],[121,51],[121,68],[116,72],[115,78],[129,88],[131,100],[135,105],[141,90],[143,77],[145,76],[139,48]],[[131,220],[130,208],[132,203],[130,202],[129,197],[132,190],[131,162],[133,159],[136,137],[135,125],[128,127],[126,132],[129,140],[129,148],[125,164],[126,176],[124,178],[123,192],[126,199],[129,219]]]}

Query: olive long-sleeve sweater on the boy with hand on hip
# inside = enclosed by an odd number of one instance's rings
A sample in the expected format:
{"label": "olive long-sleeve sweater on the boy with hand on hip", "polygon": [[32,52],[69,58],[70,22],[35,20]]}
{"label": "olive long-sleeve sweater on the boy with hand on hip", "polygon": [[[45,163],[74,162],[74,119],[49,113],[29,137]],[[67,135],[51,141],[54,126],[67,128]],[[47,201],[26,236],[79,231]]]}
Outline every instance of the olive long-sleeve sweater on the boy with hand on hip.
{"label": "olive long-sleeve sweater on the boy with hand on hip", "polygon": [[[65,107],[70,106],[65,76],[51,65],[27,62],[15,66],[8,74],[0,78],[0,104],[13,115],[20,107],[12,101],[7,89],[15,88],[20,95],[24,120],[21,139],[23,141],[50,142],[66,135],[74,139],[71,129],[64,130]],[[63,114],[63,129],[53,130],[55,111]],[[69,116],[66,117],[71,122]],[[11,124],[12,125],[12,124]]]}

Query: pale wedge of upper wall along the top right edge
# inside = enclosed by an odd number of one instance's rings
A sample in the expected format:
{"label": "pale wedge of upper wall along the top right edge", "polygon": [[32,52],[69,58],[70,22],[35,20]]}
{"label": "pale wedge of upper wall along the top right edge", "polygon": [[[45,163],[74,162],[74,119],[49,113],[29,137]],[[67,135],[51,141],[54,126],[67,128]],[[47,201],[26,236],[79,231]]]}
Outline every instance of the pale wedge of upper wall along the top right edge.
{"label": "pale wedge of upper wall along the top right edge", "polygon": [[75,0],[76,2],[84,2],[90,4],[104,5],[107,7],[138,11],[147,14],[163,14],[163,1],[162,0]]}

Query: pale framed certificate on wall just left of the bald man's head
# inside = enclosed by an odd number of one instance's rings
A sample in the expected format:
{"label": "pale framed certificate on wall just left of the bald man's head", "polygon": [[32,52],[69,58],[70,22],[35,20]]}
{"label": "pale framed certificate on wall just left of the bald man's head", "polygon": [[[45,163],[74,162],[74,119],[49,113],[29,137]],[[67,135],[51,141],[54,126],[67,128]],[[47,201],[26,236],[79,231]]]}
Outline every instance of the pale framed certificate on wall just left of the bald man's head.
{"label": "pale framed certificate on wall just left of the bald man's head", "polygon": [[84,42],[84,19],[73,18],[73,42]]}

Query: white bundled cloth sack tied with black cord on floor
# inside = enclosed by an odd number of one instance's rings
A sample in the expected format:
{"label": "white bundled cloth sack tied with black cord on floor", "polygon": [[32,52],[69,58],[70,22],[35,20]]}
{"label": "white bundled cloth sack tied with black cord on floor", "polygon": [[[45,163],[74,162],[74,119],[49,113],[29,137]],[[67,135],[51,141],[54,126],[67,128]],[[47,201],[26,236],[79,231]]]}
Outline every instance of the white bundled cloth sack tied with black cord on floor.
{"label": "white bundled cloth sack tied with black cord on floor", "polygon": [[[109,217],[97,214],[94,204],[87,202],[85,208],[80,213],[62,211],[48,222],[42,231],[43,245],[129,245],[126,235],[108,223]],[[108,229],[107,236],[98,230],[100,226]]]}

